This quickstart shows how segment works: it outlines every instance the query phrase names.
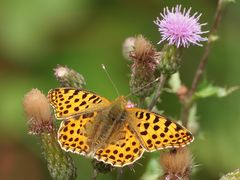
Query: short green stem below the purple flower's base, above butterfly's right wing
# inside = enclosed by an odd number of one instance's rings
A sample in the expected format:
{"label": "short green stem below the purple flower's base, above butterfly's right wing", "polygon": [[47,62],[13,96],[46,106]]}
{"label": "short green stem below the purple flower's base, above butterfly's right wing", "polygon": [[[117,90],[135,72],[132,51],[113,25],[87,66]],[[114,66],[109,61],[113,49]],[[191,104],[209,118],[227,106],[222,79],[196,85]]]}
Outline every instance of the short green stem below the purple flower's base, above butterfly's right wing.
{"label": "short green stem below the purple flower's base, above butterfly's right wing", "polygon": [[164,84],[166,82],[166,79],[167,79],[167,75],[164,75],[164,74],[160,75],[160,79],[159,79],[159,83],[158,83],[158,87],[157,87],[156,93],[154,94],[154,97],[152,98],[152,101],[151,101],[150,105],[148,106],[148,109],[150,111],[156,105],[159,97],[161,96],[162,89],[163,89],[163,86],[164,86]]}

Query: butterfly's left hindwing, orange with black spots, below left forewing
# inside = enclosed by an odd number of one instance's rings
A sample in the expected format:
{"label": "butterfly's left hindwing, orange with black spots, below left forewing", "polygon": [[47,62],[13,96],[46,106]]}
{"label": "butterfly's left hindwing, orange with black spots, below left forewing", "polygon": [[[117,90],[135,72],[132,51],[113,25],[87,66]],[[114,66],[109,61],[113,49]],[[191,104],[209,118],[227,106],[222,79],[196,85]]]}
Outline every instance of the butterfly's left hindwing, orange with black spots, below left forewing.
{"label": "butterfly's left hindwing, orange with black spots, below left forewing", "polygon": [[89,154],[86,126],[92,125],[97,113],[88,113],[61,122],[58,142],[62,149],[81,155]]}

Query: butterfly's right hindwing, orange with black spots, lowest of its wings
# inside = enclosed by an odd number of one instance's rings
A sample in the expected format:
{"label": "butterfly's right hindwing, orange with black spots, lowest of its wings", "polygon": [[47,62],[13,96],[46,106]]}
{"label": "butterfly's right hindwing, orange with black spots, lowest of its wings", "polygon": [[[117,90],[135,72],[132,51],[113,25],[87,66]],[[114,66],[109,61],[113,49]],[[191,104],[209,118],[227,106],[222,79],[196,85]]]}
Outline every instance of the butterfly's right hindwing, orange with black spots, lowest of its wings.
{"label": "butterfly's right hindwing, orange with black spots, lowest of its wings", "polygon": [[[122,133],[122,132],[121,132]],[[115,167],[123,167],[141,158],[144,149],[136,135],[126,126],[123,138],[95,152],[94,158]]]}

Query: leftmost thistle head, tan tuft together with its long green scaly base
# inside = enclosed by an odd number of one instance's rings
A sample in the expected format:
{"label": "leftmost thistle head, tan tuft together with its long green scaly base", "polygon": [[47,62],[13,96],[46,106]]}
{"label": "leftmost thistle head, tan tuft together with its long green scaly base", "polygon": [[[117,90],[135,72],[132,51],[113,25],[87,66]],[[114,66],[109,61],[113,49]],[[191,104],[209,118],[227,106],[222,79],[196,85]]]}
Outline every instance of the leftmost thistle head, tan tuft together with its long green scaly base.
{"label": "leftmost thistle head, tan tuft together with its long green scaly base", "polygon": [[72,179],[76,168],[71,157],[58,144],[48,100],[38,89],[32,89],[23,100],[29,133],[38,135],[53,179]]}

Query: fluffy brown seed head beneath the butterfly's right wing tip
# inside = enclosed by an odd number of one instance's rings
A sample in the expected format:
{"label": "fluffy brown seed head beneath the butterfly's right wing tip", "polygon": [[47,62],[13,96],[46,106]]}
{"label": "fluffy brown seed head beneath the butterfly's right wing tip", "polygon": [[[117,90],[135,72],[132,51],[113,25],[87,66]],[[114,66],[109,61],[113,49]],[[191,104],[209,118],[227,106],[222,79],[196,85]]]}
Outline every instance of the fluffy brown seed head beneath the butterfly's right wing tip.
{"label": "fluffy brown seed head beneath the butterfly's right wing tip", "polygon": [[165,172],[163,179],[187,180],[190,176],[192,156],[188,148],[179,148],[162,153],[160,164]]}

